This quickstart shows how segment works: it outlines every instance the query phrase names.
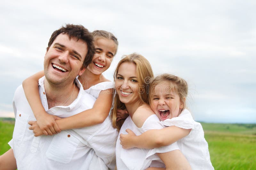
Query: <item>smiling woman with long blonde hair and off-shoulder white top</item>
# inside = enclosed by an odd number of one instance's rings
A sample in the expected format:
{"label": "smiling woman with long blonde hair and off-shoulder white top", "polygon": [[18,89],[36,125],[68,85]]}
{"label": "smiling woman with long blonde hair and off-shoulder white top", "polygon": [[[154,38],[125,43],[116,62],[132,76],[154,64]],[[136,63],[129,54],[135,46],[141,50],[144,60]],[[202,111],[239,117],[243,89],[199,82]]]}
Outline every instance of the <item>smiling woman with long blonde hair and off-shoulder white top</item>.
{"label": "smiling woman with long blonde hair and off-shoulder white top", "polygon": [[[153,71],[146,58],[133,53],[125,56],[119,61],[115,73],[116,96],[114,108],[111,112],[113,127],[117,128],[119,133],[124,133],[125,129],[132,129],[137,135],[149,129],[161,129],[159,119],[148,105],[148,83],[147,79],[153,77]],[[129,117],[124,122],[118,121],[117,109],[127,109]],[[178,127],[176,127],[178,128]],[[179,139],[188,135],[189,130],[181,129]],[[157,155],[159,157],[157,157]],[[180,152],[177,144],[156,148],[123,149],[120,140],[116,142],[116,166],[117,169],[140,170],[148,168],[151,158],[162,160],[166,168],[172,169],[190,169],[188,161]]]}

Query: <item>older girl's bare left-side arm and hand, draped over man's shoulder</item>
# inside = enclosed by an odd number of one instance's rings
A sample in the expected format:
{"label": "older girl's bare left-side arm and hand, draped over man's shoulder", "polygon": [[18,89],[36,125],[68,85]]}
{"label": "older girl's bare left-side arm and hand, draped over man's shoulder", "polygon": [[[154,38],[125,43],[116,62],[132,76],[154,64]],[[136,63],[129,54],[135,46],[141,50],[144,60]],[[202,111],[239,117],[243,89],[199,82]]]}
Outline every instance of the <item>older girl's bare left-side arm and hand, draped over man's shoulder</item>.
{"label": "older girl's bare left-side arm and hand, draped over man's shoulder", "polygon": [[54,115],[48,114],[41,103],[38,93],[38,80],[44,76],[44,71],[40,71],[22,82],[22,87],[28,103],[36,117],[37,124],[45,135],[52,135],[60,132],[60,128],[55,120],[59,119]]}

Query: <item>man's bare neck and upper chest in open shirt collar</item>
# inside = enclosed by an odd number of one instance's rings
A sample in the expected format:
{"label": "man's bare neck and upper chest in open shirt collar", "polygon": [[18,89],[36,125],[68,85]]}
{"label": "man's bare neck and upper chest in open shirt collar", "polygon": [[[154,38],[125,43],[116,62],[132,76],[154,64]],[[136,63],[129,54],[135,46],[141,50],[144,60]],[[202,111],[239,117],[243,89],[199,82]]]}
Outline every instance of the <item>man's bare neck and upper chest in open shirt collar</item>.
{"label": "man's bare neck and upper chest in open shirt collar", "polygon": [[48,109],[54,106],[68,106],[77,97],[79,89],[74,82],[55,85],[44,80],[44,89],[48,102]]}

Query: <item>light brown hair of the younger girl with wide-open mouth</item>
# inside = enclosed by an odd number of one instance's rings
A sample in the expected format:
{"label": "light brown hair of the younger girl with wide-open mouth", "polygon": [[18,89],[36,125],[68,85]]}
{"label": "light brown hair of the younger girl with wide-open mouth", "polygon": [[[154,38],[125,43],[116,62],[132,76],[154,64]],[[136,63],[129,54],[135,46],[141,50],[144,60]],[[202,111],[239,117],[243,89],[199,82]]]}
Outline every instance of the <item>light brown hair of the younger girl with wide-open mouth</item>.
{"label": "light brown hair of the younger girl with wide-open mouth", "polygon": [[186,108],[186,97],[188,96],[188,83],[184,79],[172,74],[161,74],[152,79],[149,85],[149,104],[153,101],[155,87],[162,82],[170,82],[170,88],[180,97],[180,102],[183,105],[181,111],[184,110]]}

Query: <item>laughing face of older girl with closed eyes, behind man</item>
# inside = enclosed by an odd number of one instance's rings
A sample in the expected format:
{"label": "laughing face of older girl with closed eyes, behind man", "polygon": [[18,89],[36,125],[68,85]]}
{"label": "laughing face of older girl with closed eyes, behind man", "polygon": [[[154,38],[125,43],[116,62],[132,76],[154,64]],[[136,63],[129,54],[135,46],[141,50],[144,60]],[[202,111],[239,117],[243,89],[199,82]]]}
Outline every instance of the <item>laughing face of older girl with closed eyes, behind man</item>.
{"label": "laughing face of older girl with closed eyes, behind man", "polygon": [[92,63],[86,69],[93,74],[101,74],[106,71],[116,53],[116,44],[111,39],[99,37],[94,41],[95,54],[92,58]]}

